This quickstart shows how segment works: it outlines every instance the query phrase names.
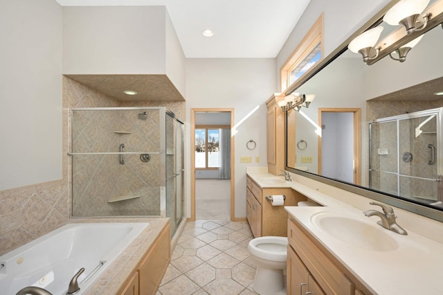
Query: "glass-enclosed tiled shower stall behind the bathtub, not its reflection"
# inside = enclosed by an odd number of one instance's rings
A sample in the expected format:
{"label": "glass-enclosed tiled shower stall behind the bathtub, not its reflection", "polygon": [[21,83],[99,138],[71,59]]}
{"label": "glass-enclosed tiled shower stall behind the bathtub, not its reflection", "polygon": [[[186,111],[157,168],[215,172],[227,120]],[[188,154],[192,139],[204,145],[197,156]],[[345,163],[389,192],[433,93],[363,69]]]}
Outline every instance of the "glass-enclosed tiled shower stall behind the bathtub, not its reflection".
{"label": "glass-enclosed tiled shower stall behind the bathtub, not its reflection", "polygon": [[72,215],[184,215],[183,122],[165,107],[70,111]]}

